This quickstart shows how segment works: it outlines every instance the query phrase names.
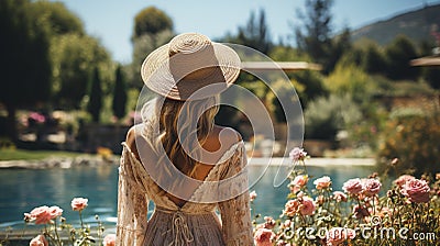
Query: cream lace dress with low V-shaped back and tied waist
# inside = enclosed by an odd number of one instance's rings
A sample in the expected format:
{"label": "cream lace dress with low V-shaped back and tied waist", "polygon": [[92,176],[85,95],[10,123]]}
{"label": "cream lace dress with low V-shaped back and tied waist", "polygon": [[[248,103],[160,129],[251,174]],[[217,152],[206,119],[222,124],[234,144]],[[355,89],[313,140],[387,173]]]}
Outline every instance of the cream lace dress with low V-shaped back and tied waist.
{"label": "cream lace dress with low V-shaped back and tied waist", "polygon": [[[244,145],[239,142],[224,153],[202,185],[195,190],[190,201],[179,208],[165,195],[144,165],[123,143],[117,245],[253,245],[249,192],[243,189],[248,187],[248,175],[242,171],[245,165]],[[197,202],[206,197],[221,197],[216,194],[220,190],[217,189],[218,181],[235,177],[239,172],[244,175],[228,188],[229,194],[233,193],[232,199]],[[154,202],[155,209],[147,219],[150,201]]]}

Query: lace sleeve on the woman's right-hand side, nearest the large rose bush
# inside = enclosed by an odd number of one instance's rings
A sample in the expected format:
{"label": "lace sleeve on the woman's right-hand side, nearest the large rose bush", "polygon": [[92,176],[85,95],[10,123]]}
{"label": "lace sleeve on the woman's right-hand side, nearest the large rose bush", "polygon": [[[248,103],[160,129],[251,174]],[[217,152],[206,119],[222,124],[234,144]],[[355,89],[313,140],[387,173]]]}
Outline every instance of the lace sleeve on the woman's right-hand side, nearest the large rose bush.
{"label": "lace sleeve on the woman's right-hand side, nearest the large rose bush", "polygon": [[246,164],[244,146],[240,145],[221,177],[222,179],[234,177],[237,180],[227,190],[238,195],[219,202],[223,239],[227,246],[253,245]]}

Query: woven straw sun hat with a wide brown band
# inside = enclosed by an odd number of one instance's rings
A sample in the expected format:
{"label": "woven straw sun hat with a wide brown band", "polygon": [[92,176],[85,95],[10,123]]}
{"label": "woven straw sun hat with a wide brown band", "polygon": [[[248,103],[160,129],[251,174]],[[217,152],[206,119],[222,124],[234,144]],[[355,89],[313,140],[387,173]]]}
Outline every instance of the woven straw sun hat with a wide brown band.
{"label": "woven straw sun hat with a wide brown band", "polygon": [[174,100],[198,100],[220,93],[240,74],[240,57],[230,47],[197,33],[175,36],[142,64],[145,86]]}

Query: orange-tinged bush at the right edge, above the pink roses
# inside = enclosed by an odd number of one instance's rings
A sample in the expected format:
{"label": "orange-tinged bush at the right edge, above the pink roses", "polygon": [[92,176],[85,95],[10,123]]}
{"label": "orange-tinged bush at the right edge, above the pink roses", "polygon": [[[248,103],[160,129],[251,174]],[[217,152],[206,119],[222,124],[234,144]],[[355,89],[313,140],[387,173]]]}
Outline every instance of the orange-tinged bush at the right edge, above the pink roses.
{"label": "orange-tinged bush at the right edge, above the pink roses", "polygon": [[[407,170],[416,175],[439,171],[440,112],[408,109],[395,112],[386,123],[377,153],[382,171],[400,175]],[[389,161],[398,158],[397,166]]]}

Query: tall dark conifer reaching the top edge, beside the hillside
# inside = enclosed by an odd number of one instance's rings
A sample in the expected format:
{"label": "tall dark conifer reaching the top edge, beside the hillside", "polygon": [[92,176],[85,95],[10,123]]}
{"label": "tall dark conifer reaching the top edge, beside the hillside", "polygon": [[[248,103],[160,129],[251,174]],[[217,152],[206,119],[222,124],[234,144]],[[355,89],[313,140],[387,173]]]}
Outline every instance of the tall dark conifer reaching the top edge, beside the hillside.
{"label": "tall dark conifer reaching the top edge, beside the hillside", "polygon": [[332,48],[330,12],[333,0],[306,0],[307,14],[298,11],[304,25],[295,26],[298,49],[309,54],[314,62],[322,64],[326,74],[329,72],[328,57]]}

